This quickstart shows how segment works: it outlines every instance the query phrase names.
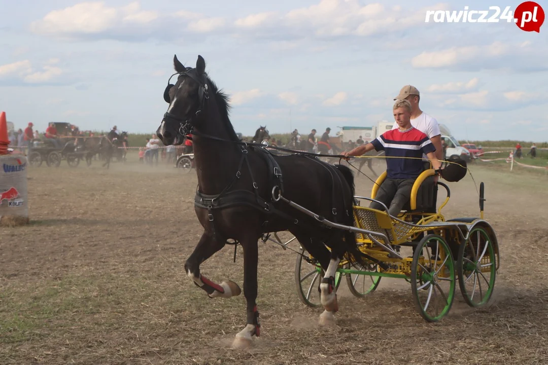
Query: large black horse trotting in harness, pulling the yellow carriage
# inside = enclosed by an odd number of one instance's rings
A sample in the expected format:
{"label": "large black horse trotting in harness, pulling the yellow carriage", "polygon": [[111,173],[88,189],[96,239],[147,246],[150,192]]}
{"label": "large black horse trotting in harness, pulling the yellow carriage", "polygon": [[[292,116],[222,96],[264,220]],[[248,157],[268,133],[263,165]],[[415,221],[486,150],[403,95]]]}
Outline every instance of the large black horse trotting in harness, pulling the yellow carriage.
{"label": "large black horse trotting in harness, pulling the yellow carriage", "polygon": [[[204,232],[186,260],[187,275],[211,298],[239,295],[235,282],[215,283],[199,269],[227,240],[239,242],[247,325],[233,345],[248,346],[253,335],[260,334],[255,302],[258,240],[265,233],[289,230],[325,271],[319,285],[325,309],[320,323],[333,323],[338,311],[334,286],[338,264],[343,258],[365,264],[353,233],[321,223],[328,219],[353,225],[354,182],[349,167],[329,165],[307,154],[273,155],[260,145],[241,142],[230,123],[227,96],[206,74],[202,56],[195,68],[183,66],[176,56],[173,61],[177,80],[168,82],[164,91],[169,107],[156,134],[165,145],[177,145],[192,133],[198,175],[195,211]],[[321,217],[312,218],[290,202]]]}

